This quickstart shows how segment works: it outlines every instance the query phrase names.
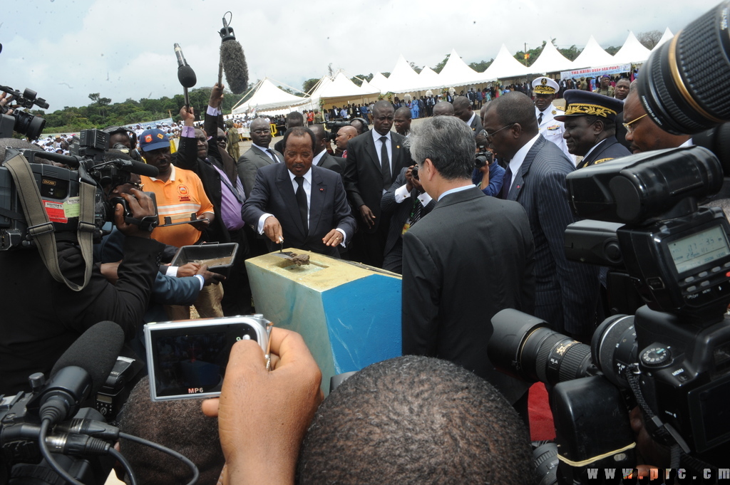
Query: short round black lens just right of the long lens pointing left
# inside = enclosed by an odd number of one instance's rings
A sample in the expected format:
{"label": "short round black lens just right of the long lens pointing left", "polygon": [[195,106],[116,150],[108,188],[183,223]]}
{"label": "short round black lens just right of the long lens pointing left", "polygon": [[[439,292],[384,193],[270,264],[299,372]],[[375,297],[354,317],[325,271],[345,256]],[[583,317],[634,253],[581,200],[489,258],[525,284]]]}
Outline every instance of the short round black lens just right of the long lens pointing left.
{"label": "short round black lens just right of the long lens pointing left", "polygon": [[591,354],[606,379],[618,387],[628,388],[623,372],[637,362],[639,346],[633,315],[615,315],[603,321],[593,333]]}

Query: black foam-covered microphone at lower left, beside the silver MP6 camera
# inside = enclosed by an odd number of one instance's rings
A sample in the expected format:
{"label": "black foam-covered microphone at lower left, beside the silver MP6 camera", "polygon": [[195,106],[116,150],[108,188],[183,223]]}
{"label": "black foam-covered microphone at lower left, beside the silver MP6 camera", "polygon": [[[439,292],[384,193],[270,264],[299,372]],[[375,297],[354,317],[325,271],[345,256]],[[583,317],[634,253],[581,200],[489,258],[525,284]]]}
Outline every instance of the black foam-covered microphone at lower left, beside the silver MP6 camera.
{"label": "black foam-covered microphone at lower left, beside the silver MP6 camera", "polygon": [[55,362],[50,380],[28,403],[28,411],[39,409],[41,419],[51,424],[72,417],[107,381],[123,344],[124,332],[114,322],[86,330]]}

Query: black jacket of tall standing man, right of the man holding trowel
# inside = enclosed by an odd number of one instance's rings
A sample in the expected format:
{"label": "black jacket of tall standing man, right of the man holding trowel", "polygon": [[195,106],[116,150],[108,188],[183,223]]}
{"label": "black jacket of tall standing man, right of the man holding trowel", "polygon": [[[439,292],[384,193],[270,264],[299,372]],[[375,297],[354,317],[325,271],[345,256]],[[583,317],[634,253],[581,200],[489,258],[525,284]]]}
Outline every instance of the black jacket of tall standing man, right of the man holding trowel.
{"label": "black jacket of tall standing man, right of the man holding trowel", "polygon": [[[380,158],[375,150],[372,136],[370,131],[366,131],[347,142],[347,165],[343,174],[347,197],[350,198],[353,207],[358,210],[360,206],[366,205],[375,215],[375,224],[372,228],[361,226],[366,233],[374,233],[380,227],[380,199],[383,198],[383,172],[380,169]],[[393,175],[413,163],[410,152],[403,146],[404,140],[404,136],[391,131]]]}

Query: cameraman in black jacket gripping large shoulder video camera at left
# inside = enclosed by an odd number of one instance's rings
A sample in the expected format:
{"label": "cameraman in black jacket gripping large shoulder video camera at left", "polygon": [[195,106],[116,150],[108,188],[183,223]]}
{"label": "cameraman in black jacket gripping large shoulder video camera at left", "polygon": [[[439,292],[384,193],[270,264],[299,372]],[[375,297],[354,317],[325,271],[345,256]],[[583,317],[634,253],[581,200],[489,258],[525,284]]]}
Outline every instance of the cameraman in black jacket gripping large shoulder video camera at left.
{"label": "cameraman in black jacket gripping large shoulder video camera at left", "polygon": [[[0,160],[5,158],[0,144]],[[152,199],[137,189],[120,195],[132,217],[155,215]],[[36,248],[0,252],[3,318],[0,319],[0,394],[28,391],[28,376],[47,373],[66,349],[89,327],[103,320],[117,323],[129,340],[142,321],[164,245],[148,230],[124,220],[121,204],[114,222],[124,233],[124,260],[116,284],[107,282],[94,265],[80,291],[56,281]],[[82,284],[85,264],[75,233],[56,233],[58,265],[67,279]]]}

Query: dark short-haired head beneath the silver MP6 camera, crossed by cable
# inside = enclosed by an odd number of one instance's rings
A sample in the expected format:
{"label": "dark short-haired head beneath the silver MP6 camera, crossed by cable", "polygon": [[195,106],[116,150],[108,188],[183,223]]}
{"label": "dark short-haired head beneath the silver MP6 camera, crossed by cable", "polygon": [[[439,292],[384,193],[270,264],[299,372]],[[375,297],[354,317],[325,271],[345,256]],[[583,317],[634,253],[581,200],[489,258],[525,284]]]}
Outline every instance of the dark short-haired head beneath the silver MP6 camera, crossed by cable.
{"label": "dark short-haired head beneath the silver MP6 camera, crossed by cable", "polygon": [[[218,419],[200,411],[202,399],[150,400],[147,377],[132,389],[124,406],[119,429],[173,449],[196,464],[199,484],[215,484],[226,462],[218,438]],[[139,484],[184,484],[191,471],[177,458],[134,441],[120,439],[120,451],[128,459]]]}

